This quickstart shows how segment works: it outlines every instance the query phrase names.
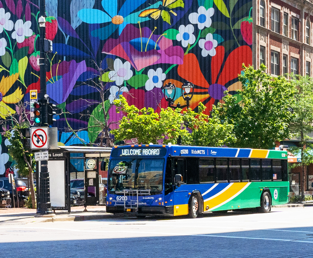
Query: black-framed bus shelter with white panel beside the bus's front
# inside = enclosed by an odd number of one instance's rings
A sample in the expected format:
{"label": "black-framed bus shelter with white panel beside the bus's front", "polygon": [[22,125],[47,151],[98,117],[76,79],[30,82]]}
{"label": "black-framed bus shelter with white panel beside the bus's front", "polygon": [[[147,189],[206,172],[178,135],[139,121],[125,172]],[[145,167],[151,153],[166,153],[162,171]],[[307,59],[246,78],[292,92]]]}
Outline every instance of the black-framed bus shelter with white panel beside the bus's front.
{"label": "black-framed bus shelter with white panel beside the bus's front", "polygon": [[[50,201],[53,210],[68,210],[75,205],[105,205],[107,171],[105,163],[112,148],[58,146],[49,150],[48,172]],[[37,192],[40,161],[37,161]],[[76,191],[74,191],[76,190]],[[84,196],[77,192],[84,190]],[[78,195],[71,194],[76,193]],[[73,196],[74,195],[74,196]],[[74,199],[74,200],[73,200]],[[76,201],[75,201],[76,200]],[[37,195],[38,203],[38,195]]]}

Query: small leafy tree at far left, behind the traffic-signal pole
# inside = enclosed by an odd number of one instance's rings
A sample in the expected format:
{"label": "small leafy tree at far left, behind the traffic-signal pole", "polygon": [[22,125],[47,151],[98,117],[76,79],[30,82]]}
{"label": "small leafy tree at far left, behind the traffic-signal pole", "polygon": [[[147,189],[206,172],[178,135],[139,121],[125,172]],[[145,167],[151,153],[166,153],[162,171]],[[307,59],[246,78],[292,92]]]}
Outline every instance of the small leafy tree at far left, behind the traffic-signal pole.
{"label": "small leafy tree at far left, behind the traffic-signal pole", "polygon": [[[8,110],[8,117],[1,121],[3,124],[4,136],[8,138],[10,144],[8,145],[8,154],[15,160],[15,168],[22,176],[28,176],[30,182],[31,196],[35,195],[33,184],[33,171],[35,169],[35,160],[33,153],[26,147],[25,129],[29,129],[28,114],[25,105],[19,102],[16,105],[16,113],[12,114]],[[36,198],[32,198],[32,207],[36,207]]]}

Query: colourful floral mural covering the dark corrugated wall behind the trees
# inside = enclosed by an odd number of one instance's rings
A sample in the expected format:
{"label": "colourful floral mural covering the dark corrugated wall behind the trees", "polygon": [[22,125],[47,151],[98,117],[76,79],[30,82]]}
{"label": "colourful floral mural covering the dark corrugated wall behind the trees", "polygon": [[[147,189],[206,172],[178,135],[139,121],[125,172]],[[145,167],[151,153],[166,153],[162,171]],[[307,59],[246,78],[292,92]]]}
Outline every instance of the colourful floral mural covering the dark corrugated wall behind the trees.
{"label": "colourful floral mural covering the dark corrugated wall behind the trees", "polygon": [[[40,92],[38,2],[0,0],[0,119]],[[53,125],[62,145],[97,143],[90,114],[101,98],[92,80],[105,85],[110,122],[121,119],[112,106],[120,93],[160,111],[162,86],[187,80],[190,107],[202,102],[210,112],[224,90],[236,94],[241,64],[252,63],[252,0],[46,0],[46,15],[47,94],[63,111]],[[180,90],[172,97],[184,103]],[[13,162],[1,137],[0,175]]]}

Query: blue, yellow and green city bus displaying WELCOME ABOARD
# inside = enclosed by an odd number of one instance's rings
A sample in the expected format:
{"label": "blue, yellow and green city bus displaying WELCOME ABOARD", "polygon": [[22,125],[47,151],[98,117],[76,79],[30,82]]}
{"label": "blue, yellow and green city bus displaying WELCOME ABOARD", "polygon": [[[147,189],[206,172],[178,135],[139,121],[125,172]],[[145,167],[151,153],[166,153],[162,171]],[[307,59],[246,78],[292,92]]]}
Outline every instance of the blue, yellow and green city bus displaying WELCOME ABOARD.
{"label": "blue, yellow and green city bus displaying WELCOME ABOARD", "polygon": [[287,152],[184,145],[115,146],[106,211],[145,216],[188,215],[288,202]]}

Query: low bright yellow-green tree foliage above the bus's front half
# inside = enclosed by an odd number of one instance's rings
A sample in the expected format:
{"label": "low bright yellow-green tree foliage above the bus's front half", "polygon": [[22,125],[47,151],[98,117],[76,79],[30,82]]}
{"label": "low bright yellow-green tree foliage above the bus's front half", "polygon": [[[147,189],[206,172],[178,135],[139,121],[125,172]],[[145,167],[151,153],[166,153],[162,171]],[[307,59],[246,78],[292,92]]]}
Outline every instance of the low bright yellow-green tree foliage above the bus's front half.
{"label": "low bright yellow-green tree foliage above the bus's front half", "polygon": [[129,106],[120,96],[114,101],[117,112],[125,116],[119,121],[119,128],[112,130],[117,141],[132,141],[138,144],[167,144],[177,142],[197,146],[223,146],[235,141],[233,126],[221,124],[218,118],[203,114],[205,107],[199,104],[199,113],[189,109],[181,114],[181,109],[161,109],[158,114],[152,108],[137,109]]}

